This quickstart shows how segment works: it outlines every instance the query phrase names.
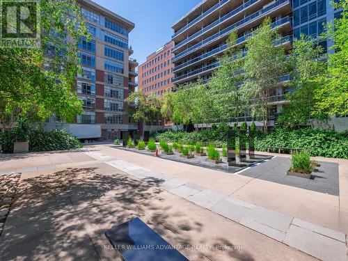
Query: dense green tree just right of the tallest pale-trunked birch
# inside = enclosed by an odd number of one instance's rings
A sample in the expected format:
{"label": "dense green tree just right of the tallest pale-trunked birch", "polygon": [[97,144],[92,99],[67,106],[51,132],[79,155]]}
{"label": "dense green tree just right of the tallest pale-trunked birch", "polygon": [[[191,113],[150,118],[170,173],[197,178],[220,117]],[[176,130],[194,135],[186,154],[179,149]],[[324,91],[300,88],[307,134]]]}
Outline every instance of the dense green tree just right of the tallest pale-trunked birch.
{"label": "dense green tree just right of the tallest pale-trunked birch", "polygon": [[[308,125],[313,115],[315,91],[323,84],[318,81],[325,74],[325,62],[319,55],[322,48],[306,35],[300,40],[294,40],[290,52],[289,64],[291,73],[290,88],[294,91],[287,95],[290,104],[283,106],[278,123],[285,127]],[[320,77],[319,77],[320,76]],[[315,113],[320,120],[326,119],[326,114]]]}

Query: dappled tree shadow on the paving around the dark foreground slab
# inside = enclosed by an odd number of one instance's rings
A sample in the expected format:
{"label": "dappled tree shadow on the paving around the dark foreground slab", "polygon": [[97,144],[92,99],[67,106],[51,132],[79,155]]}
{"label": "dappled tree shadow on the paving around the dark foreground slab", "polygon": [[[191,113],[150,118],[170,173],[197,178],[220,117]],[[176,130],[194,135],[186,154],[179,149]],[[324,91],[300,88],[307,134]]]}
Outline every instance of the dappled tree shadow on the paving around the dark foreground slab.
{"label": "dappled tree shadow on the paving around the dark foreground slab", "polygon": [[[203,224],[185,211],[191,203],[182,200],[185,205],[178,207],[176,200],[153,183],[103,164],[22,180],[0,238],[1,260],[118,260],[104,232],[135,216],[170,244],[193,244]],[[215,259],[214,251],[181,252],[190,260]],[[246,251],[228,256],[253,260]]]}

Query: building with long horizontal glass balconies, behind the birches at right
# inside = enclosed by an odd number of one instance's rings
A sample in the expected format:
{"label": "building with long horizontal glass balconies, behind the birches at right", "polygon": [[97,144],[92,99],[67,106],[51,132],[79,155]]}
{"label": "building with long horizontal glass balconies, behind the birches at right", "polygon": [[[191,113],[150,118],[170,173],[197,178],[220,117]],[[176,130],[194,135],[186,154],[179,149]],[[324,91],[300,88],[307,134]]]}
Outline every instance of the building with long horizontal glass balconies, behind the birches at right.
{"label": "building with long horizontal glass balconies, behind the birches at right", "polygon": [[[226,50],[226,40],[237,31],[237,45],[243,46],[251,31],[265,17],[271,17],[272,26],[282,36],[280,44],[285,50],[292,48],[292,39],[301,33],[316,37],[324,31],[324,24],[338,17],[329,0],[204,0],[173,25],[172,51],[175,77],[173,84],[195,81],[198,76],[209,79],[219,66],[216,56]],[[326,50],[332,43],[322,40]],[[290,80],[284,75],[280,83]],[[272,113],[278,113],[287,93],[282,86],[276,88],[269,104]]]}

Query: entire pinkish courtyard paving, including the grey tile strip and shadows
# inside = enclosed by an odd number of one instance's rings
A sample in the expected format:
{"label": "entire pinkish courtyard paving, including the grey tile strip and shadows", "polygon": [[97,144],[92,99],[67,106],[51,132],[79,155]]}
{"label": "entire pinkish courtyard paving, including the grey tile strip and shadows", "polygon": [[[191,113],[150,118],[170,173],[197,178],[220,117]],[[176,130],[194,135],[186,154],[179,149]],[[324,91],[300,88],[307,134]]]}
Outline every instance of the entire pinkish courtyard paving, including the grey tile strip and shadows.
{"label": "entire pinkish courtyard paving, including the grey tile strip and shadows", "polygon": [[190,260],[346,260],[348,164],[329,161],[339,196],[107,145],[3,157],[0,173],[22,181],[1,260],[118,259],[104,231],[134,216],[170,244],[200,246],[180,249]]}

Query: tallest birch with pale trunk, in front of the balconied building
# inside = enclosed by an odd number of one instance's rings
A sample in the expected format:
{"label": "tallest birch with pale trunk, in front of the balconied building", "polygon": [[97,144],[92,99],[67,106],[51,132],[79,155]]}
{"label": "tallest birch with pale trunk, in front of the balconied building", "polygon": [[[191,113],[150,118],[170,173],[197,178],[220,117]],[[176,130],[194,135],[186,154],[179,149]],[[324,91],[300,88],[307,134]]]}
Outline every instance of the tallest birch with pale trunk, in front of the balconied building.
{"label": "tallest birch with pale trunk, in front of the balconied building", "polygon": [[271,28],[271,19],[267,17],[258,29],[248,38],[243,70],[244,83],[242,93],[253,116],[260,116],[267,130],[269,114],[268,99],[271,90],[279,84],[279,78],[286,71],[285,51],[277,45],[280,35]]}

